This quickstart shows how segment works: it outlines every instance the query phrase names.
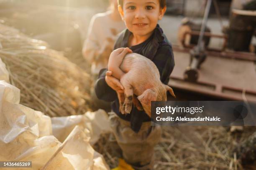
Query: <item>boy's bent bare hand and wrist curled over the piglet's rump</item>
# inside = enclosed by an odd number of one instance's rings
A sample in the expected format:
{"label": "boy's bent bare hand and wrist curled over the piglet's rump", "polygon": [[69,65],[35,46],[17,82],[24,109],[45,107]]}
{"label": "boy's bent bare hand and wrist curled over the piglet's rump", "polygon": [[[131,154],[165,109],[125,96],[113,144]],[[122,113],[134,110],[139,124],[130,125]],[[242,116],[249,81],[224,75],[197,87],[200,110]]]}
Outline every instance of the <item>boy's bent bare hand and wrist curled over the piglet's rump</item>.
{"label": "boy's bent bare hand and wrist curled over the piglet's rump", "polygon": [[120,77],[125,73],[120,69],[120,65],[123,62],[123,59],[126,54],[131,53],[132,50],[128,47],[118,48],[111,52],[108,60],[108,70],[113,72],[113,76],[120,80]]}

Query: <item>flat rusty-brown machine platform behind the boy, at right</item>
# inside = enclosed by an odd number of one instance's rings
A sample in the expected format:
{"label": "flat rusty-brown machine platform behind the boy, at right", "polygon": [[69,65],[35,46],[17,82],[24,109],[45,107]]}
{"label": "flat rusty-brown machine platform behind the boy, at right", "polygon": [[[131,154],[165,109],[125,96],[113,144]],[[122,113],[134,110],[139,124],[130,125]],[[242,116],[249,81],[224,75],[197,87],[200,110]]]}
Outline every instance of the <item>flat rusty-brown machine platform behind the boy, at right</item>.
{"label": "flat rusty-brown machine platform behind the boy, at right", "polygon": [[[256,65],[252,61],[207,56],[197,83],[185,82],[189,53],[174,52],[175,67],[169,85],[230,100],[256,100]],[[244,93],[244,94],[243,94]]]}

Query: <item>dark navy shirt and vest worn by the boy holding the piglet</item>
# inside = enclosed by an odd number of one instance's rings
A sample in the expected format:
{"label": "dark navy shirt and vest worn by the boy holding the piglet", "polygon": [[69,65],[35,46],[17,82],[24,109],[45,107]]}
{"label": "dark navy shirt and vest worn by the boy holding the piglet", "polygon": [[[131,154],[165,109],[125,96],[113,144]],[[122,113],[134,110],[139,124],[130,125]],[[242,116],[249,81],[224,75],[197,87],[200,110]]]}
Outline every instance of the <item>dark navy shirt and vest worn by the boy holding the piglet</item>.
{"label": "dark navy shirt and vest worn by the boy holding the piglet", "polygon": [[[114,50],[121,47],[128,47],[128,40],[132,32],[128,29],[120,33],[118,40],[115,42]],[[163,30],[156,26],[153,34],[141,44],[129,47],[133,52],[138,53],[152,60],[160,72],[161,82],[168,84],[169,77],[174,68],[174,55],[172,45],[167,40]],[[136,107],[128,115],[122,115],[119,112],[119,102],[116,92],[108,86],[105,81],[107,69],[100,70],[99,79],[95,83],[95,92],[99,99],[113,102],[111,107],[113,111],[123,120],[131,122],[131,128],[138,133],[142,122],[151,121],[151,118],[144,111],[139,111]],[[150,81],[150,80],[148,80]]]}

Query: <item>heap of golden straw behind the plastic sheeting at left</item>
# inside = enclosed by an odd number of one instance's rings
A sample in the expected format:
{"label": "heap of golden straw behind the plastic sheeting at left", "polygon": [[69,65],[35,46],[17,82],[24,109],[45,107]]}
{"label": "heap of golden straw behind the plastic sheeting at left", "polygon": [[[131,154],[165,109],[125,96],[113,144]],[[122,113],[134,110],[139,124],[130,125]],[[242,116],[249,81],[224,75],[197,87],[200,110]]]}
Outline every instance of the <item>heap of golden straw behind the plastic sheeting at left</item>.
{"label": "heap of golden straw behind the plastic sheeting at left", "polygon": [[78,115],[90,110],[90,76],[60,52],[14,28],[0,25],[0,57],[20,104],[46,115]]}

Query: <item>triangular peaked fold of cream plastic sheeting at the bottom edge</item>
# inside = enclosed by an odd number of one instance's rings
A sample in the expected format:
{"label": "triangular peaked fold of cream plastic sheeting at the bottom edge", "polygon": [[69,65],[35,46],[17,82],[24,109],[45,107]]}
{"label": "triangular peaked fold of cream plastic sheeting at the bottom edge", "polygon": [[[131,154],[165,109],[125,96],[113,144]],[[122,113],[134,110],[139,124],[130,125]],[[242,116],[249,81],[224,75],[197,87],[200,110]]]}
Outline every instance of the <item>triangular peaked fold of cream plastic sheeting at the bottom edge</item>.
{"label": "triangular peaked fold of cream plastic sheeting at the bottom edge", "polygon": [[75,126],[42,170],[109,170],[99,153],[90,146],[90,132]]}

